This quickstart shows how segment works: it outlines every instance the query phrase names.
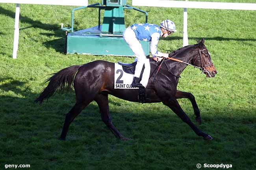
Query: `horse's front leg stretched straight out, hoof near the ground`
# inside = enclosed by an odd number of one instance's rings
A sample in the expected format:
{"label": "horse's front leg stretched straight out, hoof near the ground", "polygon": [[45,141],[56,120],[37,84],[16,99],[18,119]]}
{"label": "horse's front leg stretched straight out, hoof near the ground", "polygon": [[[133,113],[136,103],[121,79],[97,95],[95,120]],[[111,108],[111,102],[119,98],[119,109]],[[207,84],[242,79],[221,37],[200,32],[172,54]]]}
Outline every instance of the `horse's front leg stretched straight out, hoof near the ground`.
{"label": "horse's front leg stretched straight out, hoof near the ground", "polygon": [[171,110],[173,110],[173,112],[176,113],[176,115],[178,115],[178,117],[180,117],[182,121],[186,122],[198,136],[202,136],[205,140],[208,140],[208,141],[213,139],[210,135],[202,132],[200,129],[197,128],[197,126],[195,126],[195,124],[193,124],[193,122],[191,122],[189,117],[180,107],[180,104],[175,99],[175,97],[171,97],[169,100],[163,101],[163,104],[171,108]]}

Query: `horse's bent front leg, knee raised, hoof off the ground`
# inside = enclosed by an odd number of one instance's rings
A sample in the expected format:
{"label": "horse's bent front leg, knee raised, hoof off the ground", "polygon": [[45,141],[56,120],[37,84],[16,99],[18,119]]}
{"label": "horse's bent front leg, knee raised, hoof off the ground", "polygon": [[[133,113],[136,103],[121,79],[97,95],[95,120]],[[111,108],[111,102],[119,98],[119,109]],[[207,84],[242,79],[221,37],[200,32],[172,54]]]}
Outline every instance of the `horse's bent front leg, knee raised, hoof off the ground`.
{"label": "horse's bent front leg, knee raised, hoof off the ground", "polygon": [[187,93],[187,92],[184,92],[184,91],[177,90],[175,98],[176,99],[181,99],[181,98],[189,99],[192,106],[193,106],[193,109],[194,109],[194,113],[195,113],[195,116],[196,116],[196,121],[198,122],[198,124],[202,123],[202,119],[201,119],[201,116],[200,116],[200,111],[199,111],[199,108],[197,106],[195,96],[192,93]]}

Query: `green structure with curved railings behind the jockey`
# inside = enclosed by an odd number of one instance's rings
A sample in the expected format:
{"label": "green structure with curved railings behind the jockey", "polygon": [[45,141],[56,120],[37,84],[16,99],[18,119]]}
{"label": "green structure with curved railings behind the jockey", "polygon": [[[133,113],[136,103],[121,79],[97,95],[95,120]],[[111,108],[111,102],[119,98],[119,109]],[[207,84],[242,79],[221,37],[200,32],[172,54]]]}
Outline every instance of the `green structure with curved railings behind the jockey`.
{"label": "green structure with curved railings behind the jockey", "polygon": [[[98,26],[74,31],[74,12],[88,7],[98,8]],[[97,3],[73,9],[71,28],[62,28],[66,31],[67,54],[134,56],[122,37],[123,31],[126,29],[124,9],[134,9],[145,13],[145,23],[147,23],[147,12],[126,5],[126,0],[102,0],[102,5]],[[102,25],[100,25],[101,10],[104,10]],[[71,32],[67,33],[67,31]],[[145,55],[148,55],[150,52],[149,42],[141,41],[141,44]]]}

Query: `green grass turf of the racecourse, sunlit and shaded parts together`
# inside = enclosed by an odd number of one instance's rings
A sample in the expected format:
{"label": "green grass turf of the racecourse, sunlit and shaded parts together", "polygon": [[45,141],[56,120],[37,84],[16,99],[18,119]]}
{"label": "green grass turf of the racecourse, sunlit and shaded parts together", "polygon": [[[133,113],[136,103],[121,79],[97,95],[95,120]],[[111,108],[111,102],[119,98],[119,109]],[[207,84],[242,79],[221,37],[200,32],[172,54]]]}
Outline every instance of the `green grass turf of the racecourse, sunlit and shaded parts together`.
{"label": "green grass turf of the racecourse, sunlit and shaded parts together", "polygon": [[[149,23],[169,18],[176,24],[178,32],[161,39],[159,51],[182,47],[183,9],[139,8],[148,12]],[[255,11],[188,9],[189,44],[206,39],[218,74],[208,79],[187,67],[178,89],[195,95],[202,116],[199,128],[213,136],[213,141],[195,135],[161,103],[138,104],[109,96],[113,123],[132,139],[115,139],[92,102],[72,122],[63,142],[58,137],[75,95],[55,95],[42,106],[35,104],[44,79],[93,60],[133,61],[130,57],[64,55],[64,33],[59,27],[60,23],[70,26],[71,10],[22,4],[18,58],[13,60],[15,4],[0,4],[0,169],[6,164],[30,164],[33,170],[195,170],[197,163],[256,169]],[[126,26],[145,20],[136,11],[125,11],[125,15]],[[96,26],[97,16],[96,9],[77,11],[75,29]],[[190,102],[179,102],[195,122]]]}

